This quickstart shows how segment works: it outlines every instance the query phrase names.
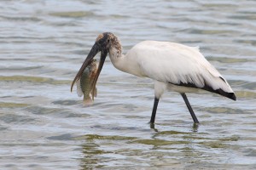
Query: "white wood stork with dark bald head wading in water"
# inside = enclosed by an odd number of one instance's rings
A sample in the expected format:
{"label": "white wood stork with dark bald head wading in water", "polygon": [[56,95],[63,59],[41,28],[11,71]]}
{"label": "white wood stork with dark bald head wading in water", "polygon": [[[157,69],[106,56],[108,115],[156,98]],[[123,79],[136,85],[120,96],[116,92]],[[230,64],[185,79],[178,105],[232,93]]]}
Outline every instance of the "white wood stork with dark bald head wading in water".
{"label": "white wood stork with dark bald head wading in water", "polygon": [[174,42],[143,41],[137,43],[127,54],[122,54],[119,39],[111,32],[104,32],[96,38],[95,44],[73,80],[71,91],[74,82],[81,77],[86,66],[98,52],[101,52],[101,59],[93,80],[94,87],[107,54],[118,70],[154,80],[151,123],[154,123],[159,99],[166,90],[176,91],[182,95],[195,123],[199,122],[185,93],[202,89],[236,100],[236,95],[229,83],[205,59],[199,48]]}

